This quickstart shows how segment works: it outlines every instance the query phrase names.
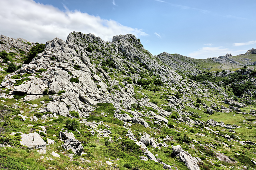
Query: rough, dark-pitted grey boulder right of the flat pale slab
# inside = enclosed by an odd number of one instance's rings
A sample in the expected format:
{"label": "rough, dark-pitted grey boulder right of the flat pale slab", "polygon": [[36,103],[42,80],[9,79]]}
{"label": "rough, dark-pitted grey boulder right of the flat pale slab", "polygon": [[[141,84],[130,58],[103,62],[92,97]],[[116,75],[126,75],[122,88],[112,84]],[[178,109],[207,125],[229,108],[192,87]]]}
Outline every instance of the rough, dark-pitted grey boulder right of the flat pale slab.
{"label": "rough, dark-pitted grey boulder right of the flat pale slab", "polygon": [[61,147],[63,147],[66,150],[71,149],[71,151],[76,155],[80,155],[83,152],[83,146],[81,145],[81,142],[79,140],[72,138],[66,140],[66,142],[63,143]]}

